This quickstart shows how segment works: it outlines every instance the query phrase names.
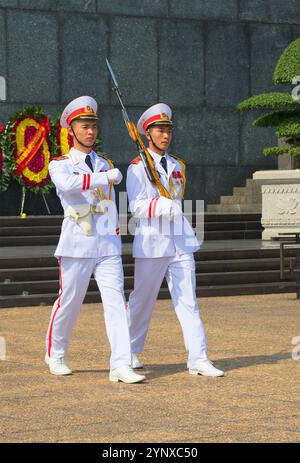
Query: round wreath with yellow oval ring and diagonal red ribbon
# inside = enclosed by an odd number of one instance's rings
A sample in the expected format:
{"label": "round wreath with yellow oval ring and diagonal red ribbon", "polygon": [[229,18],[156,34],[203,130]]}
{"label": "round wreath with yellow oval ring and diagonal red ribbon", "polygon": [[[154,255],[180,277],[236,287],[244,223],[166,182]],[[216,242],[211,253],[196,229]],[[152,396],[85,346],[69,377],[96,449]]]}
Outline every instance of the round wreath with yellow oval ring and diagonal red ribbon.
{"label": "round wreath with yellow oval ring and diagonal red ribbon", "polygon": [[8,121],[3,152],[14,178],[34,193],[47,193],[52,187],[48,166],[50,119],[39,107],[28,107]]}

